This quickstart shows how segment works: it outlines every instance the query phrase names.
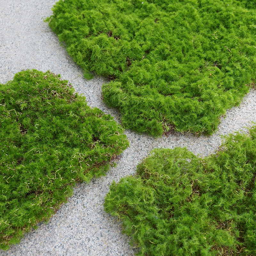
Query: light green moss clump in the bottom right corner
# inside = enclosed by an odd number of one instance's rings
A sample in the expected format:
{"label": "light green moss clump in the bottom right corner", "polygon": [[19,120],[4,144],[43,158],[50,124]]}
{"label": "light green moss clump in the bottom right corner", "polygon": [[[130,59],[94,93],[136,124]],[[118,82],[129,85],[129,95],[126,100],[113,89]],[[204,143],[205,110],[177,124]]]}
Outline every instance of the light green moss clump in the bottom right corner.
{"label": "light green moss clump in the bottom right corner", "polygon": [[204,159],[155,149],[137,176],[111,185],[105,210],[123,221],[138,255],[255,255],[256,127]]}

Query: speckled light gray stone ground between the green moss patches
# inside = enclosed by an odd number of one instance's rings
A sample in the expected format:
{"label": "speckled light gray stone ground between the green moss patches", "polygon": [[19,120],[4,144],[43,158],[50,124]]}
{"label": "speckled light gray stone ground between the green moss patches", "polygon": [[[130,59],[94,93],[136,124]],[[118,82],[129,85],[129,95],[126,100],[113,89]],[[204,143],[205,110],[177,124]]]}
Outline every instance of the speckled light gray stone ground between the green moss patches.
{"label": "speckled light gray stone ground between the green moss patches", "polygon": [[[96,76],[87,81],[83,71],[68,56],[57,36],[43,18],[51,15],[55,0],[1,0],[0,1],[0,83],[12,80],[23,69],[51,70],[67,79],[77,92],[83,93],[91,107],[111,114],[116,121],[120,115],[101,100],[104,78]],[[135,173],[136,165],[156,147],[187,147],[194,154],[206,156],[221,143],[221,136],[256,122],[256,91],[247,94],[239,108],[228,110],[218,130],[210,137],[191,135],[161,137],[158,139],[126,130],[130,147],[123,153],[115,168],[107,175],[80,184],[68,203],[52,216],[48,224],[40,223],[1,256],[22,255],[84,255],[132,256],[138,249],[129,245],[130,238],[122,234],[120,221],[104,212],[104,197],[113,180]]]}

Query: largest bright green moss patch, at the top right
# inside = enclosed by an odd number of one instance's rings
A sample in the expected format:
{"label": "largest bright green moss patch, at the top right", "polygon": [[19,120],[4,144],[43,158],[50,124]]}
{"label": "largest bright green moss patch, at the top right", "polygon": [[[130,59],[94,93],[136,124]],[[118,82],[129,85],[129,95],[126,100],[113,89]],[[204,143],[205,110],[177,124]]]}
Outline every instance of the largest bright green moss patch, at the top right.
{"label": "largest bright green moss patch, at the top right", "polygon": [[60,0],[46,19],[67,52],[108,76],[104,101],[153,136],[212,134],[255,79],[251,0]]}

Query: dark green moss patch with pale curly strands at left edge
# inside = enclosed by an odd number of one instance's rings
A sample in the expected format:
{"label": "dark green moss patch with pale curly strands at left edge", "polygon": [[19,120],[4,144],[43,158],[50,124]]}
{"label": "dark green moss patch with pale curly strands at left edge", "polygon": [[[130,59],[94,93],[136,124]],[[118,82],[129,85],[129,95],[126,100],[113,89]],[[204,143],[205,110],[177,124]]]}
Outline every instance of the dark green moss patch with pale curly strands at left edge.
{"label": "dark green moss patch with pale curly strands at left edge", "polygon": [[113,118],[60,76],[27,70],[0,84],[0,249],[49,220],[77,182],[104,174],[127,147]]}

